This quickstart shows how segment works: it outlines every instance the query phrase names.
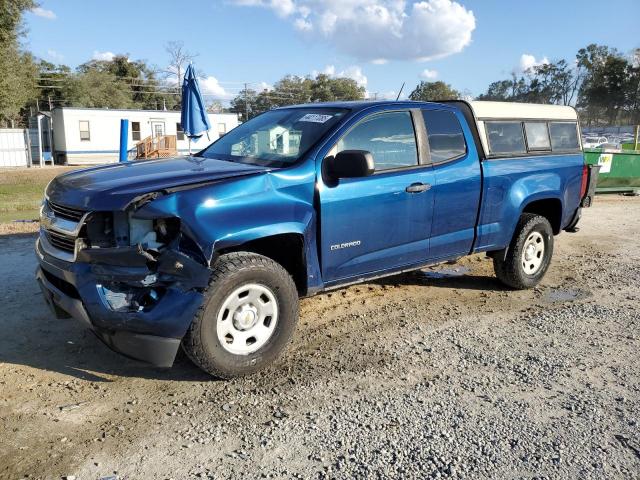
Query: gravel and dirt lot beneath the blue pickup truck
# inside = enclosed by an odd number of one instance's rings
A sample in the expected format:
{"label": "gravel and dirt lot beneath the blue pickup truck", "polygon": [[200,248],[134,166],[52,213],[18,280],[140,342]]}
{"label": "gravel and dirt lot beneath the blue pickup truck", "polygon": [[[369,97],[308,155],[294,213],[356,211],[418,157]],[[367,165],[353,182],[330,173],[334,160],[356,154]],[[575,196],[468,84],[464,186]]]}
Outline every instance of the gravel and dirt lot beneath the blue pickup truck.
{"label": "gravel and dirt lot beneath the blue pickup truck", "polygon": [[477,255],[304,300],[230,382],[54,320],[0,237],[0,478],[640,478],[640,199],[581,227],[534,290]]}

